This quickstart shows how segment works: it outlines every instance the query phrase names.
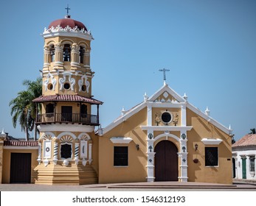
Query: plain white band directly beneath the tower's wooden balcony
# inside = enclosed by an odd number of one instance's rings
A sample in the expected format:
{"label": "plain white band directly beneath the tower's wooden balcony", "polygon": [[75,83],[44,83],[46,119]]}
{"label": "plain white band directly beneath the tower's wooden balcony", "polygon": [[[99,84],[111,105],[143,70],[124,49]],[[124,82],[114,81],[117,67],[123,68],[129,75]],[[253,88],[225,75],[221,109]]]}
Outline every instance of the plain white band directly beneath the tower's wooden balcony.
{"label": "plain white band directly beneath the tower's wooden balcony", "polygon": [[38,125],[40,132],[93,132],[94,126],[82,125],[82,124],[40,124]]}

